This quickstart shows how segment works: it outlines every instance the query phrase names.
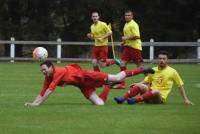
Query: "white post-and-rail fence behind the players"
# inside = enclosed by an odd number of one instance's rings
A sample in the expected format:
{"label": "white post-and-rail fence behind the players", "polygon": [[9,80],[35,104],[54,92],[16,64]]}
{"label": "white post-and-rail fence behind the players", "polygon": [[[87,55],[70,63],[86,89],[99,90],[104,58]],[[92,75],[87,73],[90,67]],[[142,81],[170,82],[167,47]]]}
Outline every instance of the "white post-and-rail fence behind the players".
{"label": "white post-and-rail fence behind the players", "polygon": [[[15,47],[16,45],[53,45],[56,47],[56,57],[50,58],[51,60],[56,60],[58,63],[61,61],[89,61],[89,58],[71,58],[71,57],[61,57],[62,55],[62,46],[91,46],[93,42],[66,42],[62,41],[60,38],[57,41],[15,41],[14,37],[11,37],[11,40],[0,40],[0,45],[6,44],[10,45],[10,56],[9,57],[0,57],[0,60],[10,60],[14,62],[15,60],[33,60],[32,57],[15,57]],[[120,46],[120,42],[114,42],[116,47]],[[111,43],[109,43],[111,45]],[[200,39],[197,42],[155,42],[154,39],[150,39],[149,42],[143,42],[142,46],[149,47],[149,58],[144,59],[145,62],[155,62],[154,52],[155,47],[196,47],[196,58],[192,59],[170,59],[171,62],[178,63],[200,63]]]}

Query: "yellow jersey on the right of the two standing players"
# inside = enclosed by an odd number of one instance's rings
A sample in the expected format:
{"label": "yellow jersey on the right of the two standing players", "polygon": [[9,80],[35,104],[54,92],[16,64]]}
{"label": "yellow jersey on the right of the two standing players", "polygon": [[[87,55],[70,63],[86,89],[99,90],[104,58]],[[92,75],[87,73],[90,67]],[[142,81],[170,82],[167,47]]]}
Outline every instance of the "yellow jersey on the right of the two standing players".
{"label": "yellow jersey on the right of the two standing players", "polygon": [[[130,22],[127,22],[125,24],[123,32],[124,32],[125,37],[130,37],[130,36],[140,37],[139,26],[134,20],[131,20]],[[135,48],[135,49],[142,50],[141,39],[126,40],[125,46],[129,46],[129,47],[132,47],[132,48]]]}

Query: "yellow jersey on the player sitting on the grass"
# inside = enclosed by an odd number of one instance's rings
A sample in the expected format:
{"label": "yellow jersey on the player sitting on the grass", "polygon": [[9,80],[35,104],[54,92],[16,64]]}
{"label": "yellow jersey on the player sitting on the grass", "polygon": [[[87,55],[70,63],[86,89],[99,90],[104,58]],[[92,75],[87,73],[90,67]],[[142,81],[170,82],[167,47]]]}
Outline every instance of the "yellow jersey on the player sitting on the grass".
{"label": "yellow jersey on the player sitting on the grass", "polygon": [[151,84],[150,88],[152,90],[159,90],[162,98],[166,101],[168,94],[171,92],[173,82],[175,81],[178,87],[184,83],[178,72],[170,66],[167,66],[163,70],[159,70],[158,67],[154,67],[153,69],[155,73],[146,76],[144,81]]}

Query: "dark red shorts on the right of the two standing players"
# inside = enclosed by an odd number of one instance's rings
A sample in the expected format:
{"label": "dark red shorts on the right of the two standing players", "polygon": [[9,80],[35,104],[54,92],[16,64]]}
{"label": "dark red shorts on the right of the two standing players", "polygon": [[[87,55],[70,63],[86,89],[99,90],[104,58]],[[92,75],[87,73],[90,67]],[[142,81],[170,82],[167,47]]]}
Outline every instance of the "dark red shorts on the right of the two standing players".
{"label": "dark red shorts on the right of the two standing players", "polygon": [[141,63],[143,62],[142,51],[132,48],[132,47],[124,46],[122,54],[121,54],[121,60],[127,61],[127,62],[133,61],[136,64]]}

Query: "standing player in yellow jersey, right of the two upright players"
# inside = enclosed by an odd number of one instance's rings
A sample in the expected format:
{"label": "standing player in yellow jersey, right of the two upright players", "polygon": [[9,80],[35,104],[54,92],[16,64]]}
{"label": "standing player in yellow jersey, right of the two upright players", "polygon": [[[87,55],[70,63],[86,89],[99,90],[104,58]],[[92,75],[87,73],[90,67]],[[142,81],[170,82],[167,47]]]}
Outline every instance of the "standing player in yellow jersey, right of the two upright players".
{"label": "standing player in yellow jersey, right of the two upright players", "polygon": [[[133,12],[125,11],[125,25],[123,29],[122,53],[121,53],[121,71],[126,70],[126,64],[133,61],[137,66],[143,65],[142,42],[140,39],[140,30],[138,24],[133,20]],[[113,88],[125,88],[125,83],[115,85]]]}

